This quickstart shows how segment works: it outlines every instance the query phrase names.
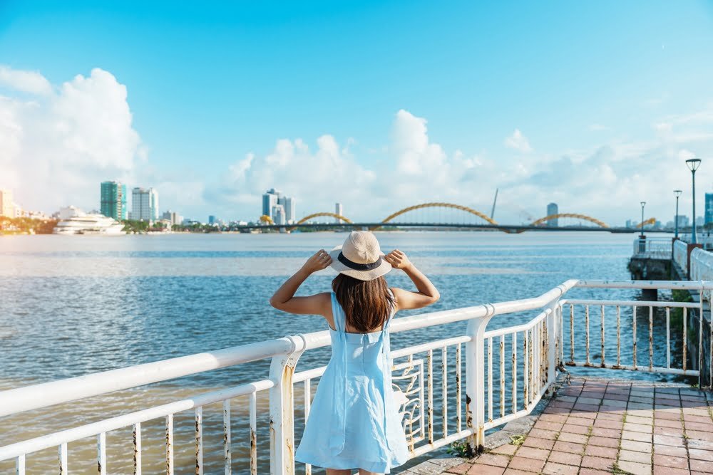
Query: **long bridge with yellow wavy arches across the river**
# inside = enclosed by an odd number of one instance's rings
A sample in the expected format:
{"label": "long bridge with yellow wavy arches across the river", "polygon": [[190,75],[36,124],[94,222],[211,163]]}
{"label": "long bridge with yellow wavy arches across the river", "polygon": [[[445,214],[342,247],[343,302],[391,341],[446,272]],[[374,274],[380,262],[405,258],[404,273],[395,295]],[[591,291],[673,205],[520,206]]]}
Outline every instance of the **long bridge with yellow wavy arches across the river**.
{"label": "long bridge with yellow wavy arches across the river", "polygon": [[[315,222],[317,218],[334,219],[334,222]],[[407,219],[405,219],[407,218]],[[560,225],[560,220],[565,224]],[[573,222],[575,221],[575,222]],[[583,225],[583,221],[590,225]],[[380,221],[354,222],[347,216],[332,212],[317,212],[304,216],[296,223],[275,224],[270,216],[261,216],[255,225],[235,226],[235,229],[378,229],[411,228],[411,229],[471,229],[479,231],[503,231],[506,233],[522,233],[524,231],[607,231],[612,233],[633,233],[641,226],[654,224],[655,218],[650,218],[636,228],[612,227],[604,221],[586,214],[558,213],[533,219],[529,224],[500,224],[477,209],[461,204],[446,202],[431,202],[416,204],[399,209]],[[554,223],[555,225],[550,225]]]}

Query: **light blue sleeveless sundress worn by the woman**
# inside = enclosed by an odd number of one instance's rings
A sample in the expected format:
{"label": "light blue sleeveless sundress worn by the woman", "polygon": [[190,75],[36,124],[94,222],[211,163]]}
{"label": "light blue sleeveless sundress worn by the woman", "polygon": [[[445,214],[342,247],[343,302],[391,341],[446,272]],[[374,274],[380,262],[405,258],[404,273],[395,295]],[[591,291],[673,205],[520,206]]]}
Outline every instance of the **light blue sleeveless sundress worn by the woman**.
{"label": "light blue sleeveless sundress worn by the woman", "polygon": [[391,388],[388,328],[394,313],[382,330],[347,333],[346,315],[332,293],[332,315],[332,357],[294,458],[327,469],[389,474],[409,459]]}

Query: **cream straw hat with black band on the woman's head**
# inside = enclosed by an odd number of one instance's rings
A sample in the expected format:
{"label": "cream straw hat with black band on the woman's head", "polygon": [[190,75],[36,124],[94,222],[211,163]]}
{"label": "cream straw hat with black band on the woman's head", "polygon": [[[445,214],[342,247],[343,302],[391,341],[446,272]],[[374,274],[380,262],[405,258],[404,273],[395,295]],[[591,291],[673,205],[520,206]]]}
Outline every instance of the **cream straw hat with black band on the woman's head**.
{"label": "cream straw hat with black band on the woman's head", "polygon": [[335,271],[360,281],[373,281],[391,271],[391,264],[383,259],[379,241],[369,231],[352,231],[329,256]]}

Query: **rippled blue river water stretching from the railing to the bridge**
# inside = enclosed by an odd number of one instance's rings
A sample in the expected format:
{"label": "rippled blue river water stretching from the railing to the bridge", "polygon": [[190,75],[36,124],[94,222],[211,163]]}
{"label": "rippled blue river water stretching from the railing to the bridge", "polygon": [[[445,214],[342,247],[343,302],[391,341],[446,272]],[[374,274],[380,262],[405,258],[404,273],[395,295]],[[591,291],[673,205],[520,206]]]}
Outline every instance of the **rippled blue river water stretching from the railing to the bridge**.
{"label": "rippled blue river water stretching from the railing to the bridge", "polygon": [[[0,239],[0,390],[324,330],[322,318],[280,313],[267,301],[310,254],[341,244],[345,236],[5,236]],[[441,301],[432,310],[536,296],[569,278],[629,278],[630,234],[391,232],[378,236],[384,251],[398,247],[431,277],[441,292]],[[300,293],[327,290],[333,276],[331,270],[313,276]],[[399,271],[387,280],[391,286],[412,287]],[[573,295],[588,298],[602,293],[582,289]],[[636,291],[607,295],[637,298]],[[532,316],[495,318],[488,328]],[[401,333],[394,335],[393,345],[401,348],[461,335],[464,328],[465,323],[457,323]],[[630,349],[623,351],[630,354]],[[324,364],[328,357],[327,348],[306,354],[298,370]],[[4,427],[14,429],[0,432],[0,444],[265,377],[267,362],[256,362],[20,414],[6,418],[9,424]],[[245,473],[247,438],[239,435],[247,427],[243,404],[239,400],[233,409],[236,473]],[[264,414],[266,398],[259,404]],[[207,473],[221,463],[216,414],[220,415],[220,404],[205,409]],[[261,425],[258,437],[264,443],[266,424]],[[188,470],[193,466],[192,415],[177,416],[176,427],[177,466]],[[145,425],[146,471],[163,463],[162,430],[161,421]],[[128,469],[130,431],[108,437],[110,447],[120,445],[109,454],[110,467],[116,467],[110,471]],[[93,467],[93,444],[93,439],[70,444],[70,460],[77,460],[73,469]],[[267,454],[261,450],[265,464]],[[213,460],[211,452],[219,456]],[[56,451],[43,451],[29,457],[28,467],[41,473],[55,459]],[[0,462],[0,471],[11,466]]]}

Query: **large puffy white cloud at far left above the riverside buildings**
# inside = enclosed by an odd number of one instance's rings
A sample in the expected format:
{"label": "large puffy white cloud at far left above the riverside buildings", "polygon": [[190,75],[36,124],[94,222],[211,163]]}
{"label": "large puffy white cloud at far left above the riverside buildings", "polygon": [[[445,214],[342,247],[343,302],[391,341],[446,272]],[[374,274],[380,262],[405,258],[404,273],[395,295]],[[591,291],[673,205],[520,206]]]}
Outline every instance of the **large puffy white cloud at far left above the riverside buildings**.
{"label": "large puffy white cloud at far left above the riverside buildings", "polygon": [[0,186],[26,209],[66,204],[98,208],[99,183],[129,181],[145,152],[126,100],[111,73],[94,69],[53,89],[39,73],[5,68],[31,97],[0,96]]}

